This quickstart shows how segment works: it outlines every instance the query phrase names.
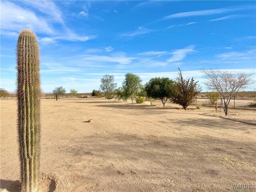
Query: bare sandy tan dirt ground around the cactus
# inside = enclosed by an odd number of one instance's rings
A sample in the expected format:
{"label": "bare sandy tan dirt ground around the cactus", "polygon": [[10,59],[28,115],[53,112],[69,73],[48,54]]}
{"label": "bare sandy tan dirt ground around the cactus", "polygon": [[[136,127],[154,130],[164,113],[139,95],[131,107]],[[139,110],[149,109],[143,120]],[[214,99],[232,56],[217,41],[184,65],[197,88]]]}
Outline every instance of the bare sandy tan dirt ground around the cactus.
{"label": "bare sandy tan dirt ground around the cactus", "polygon": [[[41,101],[44,191],[225,192],[236,191],[232,184],[256,184],[256,126],[199,115],[212,108]],[[15,192],[16,100],[1,100],[0,125],[1,191]]]}

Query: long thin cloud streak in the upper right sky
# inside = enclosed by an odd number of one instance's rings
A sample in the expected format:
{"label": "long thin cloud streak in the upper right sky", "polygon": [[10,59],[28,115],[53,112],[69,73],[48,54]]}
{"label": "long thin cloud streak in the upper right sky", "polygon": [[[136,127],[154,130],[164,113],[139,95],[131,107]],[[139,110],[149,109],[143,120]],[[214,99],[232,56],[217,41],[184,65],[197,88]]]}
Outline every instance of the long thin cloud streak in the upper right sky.
{"label": "long thin cloud streak in the upper right sky", "polygon": [[255,9],[255,6],[242,5],[242,6],[230,6],[230,7],[219,8],[219,9],[182,12],[182,13],[176,13],[176,14],[165,16],[161,20],[172,19],[172,18],[191,17],[191,16],[205,16],[205,15],[222,14],[222,13],[234,12],[234,11],[239,11],[239,10],[248,10],[248,9]]}

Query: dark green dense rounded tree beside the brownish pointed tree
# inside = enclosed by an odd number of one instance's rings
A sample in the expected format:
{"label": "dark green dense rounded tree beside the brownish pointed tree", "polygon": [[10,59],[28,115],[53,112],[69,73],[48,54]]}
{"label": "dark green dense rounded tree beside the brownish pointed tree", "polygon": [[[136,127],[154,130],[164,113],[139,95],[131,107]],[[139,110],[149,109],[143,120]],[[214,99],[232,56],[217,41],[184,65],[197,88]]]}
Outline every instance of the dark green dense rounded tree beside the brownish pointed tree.
{"label": "dark green dense rounded tree beside the brownish pointed tree", "polygon": [[172,93],[174,81],[169,78],[152,78],[145,85],[145,91],[148,97],[154,99],[160,99],[163,107],[165,107],[166,101],[170,98]]}

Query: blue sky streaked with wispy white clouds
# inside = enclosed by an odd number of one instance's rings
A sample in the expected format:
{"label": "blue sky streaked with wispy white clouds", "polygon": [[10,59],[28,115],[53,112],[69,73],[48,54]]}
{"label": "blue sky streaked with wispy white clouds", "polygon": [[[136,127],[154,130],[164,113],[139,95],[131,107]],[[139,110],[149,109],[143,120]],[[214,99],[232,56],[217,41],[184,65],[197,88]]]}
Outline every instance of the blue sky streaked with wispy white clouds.
{"label": "blue sky streaked with wispy white clouds", "polygon": [[[175,79],[178,67],[204,87],[200,70],[256,71],[256,1],[1,1],[1,87],[16,85],[24,28],[40,45],[42,90],[98,89],[104,74],[143,83]],[[255,85],[248,87],[253,90]]]}

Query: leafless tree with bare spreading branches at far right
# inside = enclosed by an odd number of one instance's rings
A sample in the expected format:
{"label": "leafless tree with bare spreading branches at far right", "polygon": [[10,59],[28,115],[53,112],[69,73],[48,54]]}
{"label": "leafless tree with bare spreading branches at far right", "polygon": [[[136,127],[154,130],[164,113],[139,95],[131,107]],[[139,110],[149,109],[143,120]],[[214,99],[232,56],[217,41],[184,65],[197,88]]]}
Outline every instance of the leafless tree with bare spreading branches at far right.
{"label": "leafless tree with bare spreading branches at far right", "polygon": [[224,102],[224,112],[228,115],[228,104],[240,89],[246,88],[247,85],[253,84],[252,78],[254,73],[228,72],[226,70],[203,70],[206,75],[206,86],[209,90],[219,92]]}

